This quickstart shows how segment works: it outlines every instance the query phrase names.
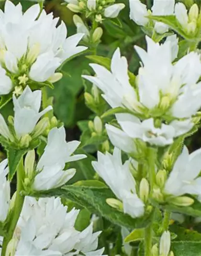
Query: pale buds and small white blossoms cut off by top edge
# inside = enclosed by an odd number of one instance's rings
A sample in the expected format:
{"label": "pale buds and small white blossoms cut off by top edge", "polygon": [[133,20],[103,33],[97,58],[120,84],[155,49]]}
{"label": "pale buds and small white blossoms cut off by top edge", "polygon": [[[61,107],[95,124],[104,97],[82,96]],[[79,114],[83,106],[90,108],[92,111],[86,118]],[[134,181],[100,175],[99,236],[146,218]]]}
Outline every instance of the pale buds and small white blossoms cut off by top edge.
{"label": "pale buds and small white blossoms cut off by top edge", "polygon": [[114,0],[65,0],[67,8],[72,12],[84,13],[86,17],[93,16],[97,23],[105,18],[116,18],[125,7],[123,3]]}

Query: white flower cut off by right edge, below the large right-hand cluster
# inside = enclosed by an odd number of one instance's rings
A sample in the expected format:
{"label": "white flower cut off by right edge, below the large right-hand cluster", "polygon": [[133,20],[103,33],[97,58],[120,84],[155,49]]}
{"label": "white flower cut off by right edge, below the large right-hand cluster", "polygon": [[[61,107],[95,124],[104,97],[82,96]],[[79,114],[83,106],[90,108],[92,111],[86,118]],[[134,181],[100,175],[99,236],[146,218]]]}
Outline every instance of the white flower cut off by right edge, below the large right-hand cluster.
{"label": "white flower cut off by right edge, below the large right-hand cluster", "polygon": [[165,184],[165,192],[169,195],[201,195],[201,149],[189,155],[188,149],[184,146],[183,151]]}

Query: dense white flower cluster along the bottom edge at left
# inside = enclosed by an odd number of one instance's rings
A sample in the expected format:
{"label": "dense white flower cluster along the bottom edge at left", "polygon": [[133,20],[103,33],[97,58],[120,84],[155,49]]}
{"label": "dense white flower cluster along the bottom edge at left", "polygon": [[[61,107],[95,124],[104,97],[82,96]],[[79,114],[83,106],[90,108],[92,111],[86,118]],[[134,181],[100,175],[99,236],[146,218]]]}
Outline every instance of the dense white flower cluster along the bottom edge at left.
{"label": "dense white flower cluster along the bottom edge at left", "polygon": [[20,219],[9,247],[15,256],[101,256],[93,223],[82,232],[75,229],[79,210],[67,212],[59,198],[25,197]]}

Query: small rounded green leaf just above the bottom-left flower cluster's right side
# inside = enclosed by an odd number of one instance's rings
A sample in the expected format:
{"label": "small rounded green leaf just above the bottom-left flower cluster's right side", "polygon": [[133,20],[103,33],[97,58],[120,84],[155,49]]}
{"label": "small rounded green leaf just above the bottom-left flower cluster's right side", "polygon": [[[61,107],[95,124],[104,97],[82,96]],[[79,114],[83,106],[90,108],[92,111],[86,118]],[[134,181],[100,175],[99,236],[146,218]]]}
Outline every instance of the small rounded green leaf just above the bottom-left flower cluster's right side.
{"label": "small rounded green leaf just above the bottom-left flower cluster's right side", "polygon": [[89,212],[88,209],[80,210],[75,222],[75,229],[80,232],[86,229],[90,224],[90,218],[91,218],[91,213]]}

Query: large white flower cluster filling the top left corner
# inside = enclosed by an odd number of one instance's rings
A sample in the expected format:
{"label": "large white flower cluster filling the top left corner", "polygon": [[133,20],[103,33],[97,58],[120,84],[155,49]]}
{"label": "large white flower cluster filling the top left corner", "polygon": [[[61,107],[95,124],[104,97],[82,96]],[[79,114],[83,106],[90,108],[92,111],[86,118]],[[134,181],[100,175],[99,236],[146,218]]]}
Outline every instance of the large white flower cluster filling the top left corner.
{"label": "large white flower cluster filling the top left corner", "polygon": [[[39,16],[40,15],[40,16]],[[39,16],[39,18],[37,18]],[[53,14],[40,13],[39,4],[22,13],[22,5],[5,3],[0,12],[0,95],[22,93],[34,82],[56,82],[56,69],[69,57],[86,49],[77,44],[83,34],[67,37],[66,25]]]}

